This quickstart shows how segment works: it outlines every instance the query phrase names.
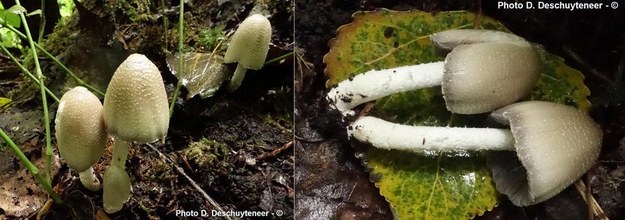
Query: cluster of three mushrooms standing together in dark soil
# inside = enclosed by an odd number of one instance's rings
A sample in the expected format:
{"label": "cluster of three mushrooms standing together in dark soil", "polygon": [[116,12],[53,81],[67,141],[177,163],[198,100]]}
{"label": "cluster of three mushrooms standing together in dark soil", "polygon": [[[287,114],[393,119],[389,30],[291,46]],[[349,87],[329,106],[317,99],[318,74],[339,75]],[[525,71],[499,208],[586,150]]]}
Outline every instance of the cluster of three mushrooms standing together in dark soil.
{"label": "cluster of three mushrooms standing together in dark soil", "polygon": [[115,138],[103,176],[103,203],[106,212],[117,212],[131,194],[125,165],[129,142],[149,143],[167,135],[169,108],[160,71],[141,54],[128,56],[113,74],[104,105],[85,87],[74,87],[61,98],[55,122],[60,155],[92,191],[101,189],[92,166],[103,155],[108,134]]}

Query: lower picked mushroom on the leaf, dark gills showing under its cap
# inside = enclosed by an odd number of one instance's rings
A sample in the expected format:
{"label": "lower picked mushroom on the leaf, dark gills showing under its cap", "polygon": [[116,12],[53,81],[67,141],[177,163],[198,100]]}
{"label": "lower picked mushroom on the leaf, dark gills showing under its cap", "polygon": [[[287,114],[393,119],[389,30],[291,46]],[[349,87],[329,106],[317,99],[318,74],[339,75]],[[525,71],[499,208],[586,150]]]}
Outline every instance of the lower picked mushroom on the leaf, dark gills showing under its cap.
{"label": "lower picked mushroom on the leaf, dark gills showing under its cap", "polygon": [[[491,117],[509,124],[510,130],[405,126],[360,117],[351,124],[349,133],[361,142],[383,149],[503,151],[491,156],[489,167],[497,190],[518,206],[533,205],[555,196],[590,169],[599,157],[601,128],[576,108],[526,101],[492,112]],[[510,158],[518,159],[514,162]]]}

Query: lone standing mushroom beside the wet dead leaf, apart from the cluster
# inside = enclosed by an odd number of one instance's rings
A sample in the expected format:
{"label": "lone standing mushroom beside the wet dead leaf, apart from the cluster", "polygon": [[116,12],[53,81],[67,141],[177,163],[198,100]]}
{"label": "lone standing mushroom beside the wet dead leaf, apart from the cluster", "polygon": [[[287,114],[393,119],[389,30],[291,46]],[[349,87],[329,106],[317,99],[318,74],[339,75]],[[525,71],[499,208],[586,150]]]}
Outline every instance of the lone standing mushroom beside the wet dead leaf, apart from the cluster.
{"label": "lone standing mushroom beside the wet dead leaf, apart from the cluster", "polygon": [[272,25],[265,16],[256,14],[243,20],[224,56],[224,63],[238,62],[232,79],[226,85],[228,92],[237,90],[247,69],[263,67],[271,40]]}

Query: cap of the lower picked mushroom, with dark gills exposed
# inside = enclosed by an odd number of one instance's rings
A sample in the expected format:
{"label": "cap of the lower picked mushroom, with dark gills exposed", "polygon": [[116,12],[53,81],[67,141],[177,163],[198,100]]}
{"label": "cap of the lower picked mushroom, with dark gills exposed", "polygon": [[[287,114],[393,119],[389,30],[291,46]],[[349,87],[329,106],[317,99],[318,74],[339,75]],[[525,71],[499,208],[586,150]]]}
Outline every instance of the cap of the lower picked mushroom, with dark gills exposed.
{"label": "cap of the lower picked mushroom, with dark gills exposed", "polygon": [[489,161],[497,190],[515,205],[533,205],[555,196],[599,157],[601,128],[576,108],[526,101],[492,112],[491,116],[510,124],[517,163],[520,161],[524,167],[515,167],[509,157],[501,155]]}

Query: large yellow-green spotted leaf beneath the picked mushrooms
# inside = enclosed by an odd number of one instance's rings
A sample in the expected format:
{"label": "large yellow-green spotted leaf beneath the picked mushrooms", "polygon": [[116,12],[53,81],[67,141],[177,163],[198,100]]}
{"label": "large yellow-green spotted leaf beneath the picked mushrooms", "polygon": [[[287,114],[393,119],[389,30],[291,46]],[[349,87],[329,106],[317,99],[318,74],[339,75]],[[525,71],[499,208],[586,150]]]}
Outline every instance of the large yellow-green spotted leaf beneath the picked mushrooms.
{"label": "large yellow-green spotted leaf beneath the picked mushrooms", "polygon": [[[460,28],[476,28],[477,15],[467,11],[396,12],[379,9],[356,12],[353,22],[338,29],[324,57],[327,87],[371,69],[388,69],[444,60],[429,35]],[[481,17],[478,28],[510,32],[497,20]],[[590,108],[583,75],[562,58],[536,45],[543,62],[541,77],[526,99]],[[394,94],[376,101],[374,115],[395,122],[425,126],[484,127],[487,114],[451,115],[440,87]],[[427,140],[424,140],[427,141]],[[471,219],[497,205],[485,158],[478,153],[432,152],[430,155],[387,151],[355,144],[371,170],[372,180],[399,219]]]}

